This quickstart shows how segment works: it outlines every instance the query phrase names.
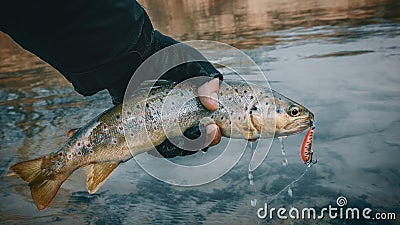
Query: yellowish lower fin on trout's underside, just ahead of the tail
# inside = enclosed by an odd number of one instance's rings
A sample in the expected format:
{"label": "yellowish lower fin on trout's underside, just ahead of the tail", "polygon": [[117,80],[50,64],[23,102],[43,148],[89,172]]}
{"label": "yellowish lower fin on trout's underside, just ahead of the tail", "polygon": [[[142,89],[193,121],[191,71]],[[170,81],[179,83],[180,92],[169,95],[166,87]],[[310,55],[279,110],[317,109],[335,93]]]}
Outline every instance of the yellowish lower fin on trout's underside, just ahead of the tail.
{"label": "yellowish lower fin on trout's underside, just ahead of the tail", "polygon": [[99,190],[118,165],[119,163],[116,162],[104,162],[86,166],[86,187],[89,194],[94,194]]}

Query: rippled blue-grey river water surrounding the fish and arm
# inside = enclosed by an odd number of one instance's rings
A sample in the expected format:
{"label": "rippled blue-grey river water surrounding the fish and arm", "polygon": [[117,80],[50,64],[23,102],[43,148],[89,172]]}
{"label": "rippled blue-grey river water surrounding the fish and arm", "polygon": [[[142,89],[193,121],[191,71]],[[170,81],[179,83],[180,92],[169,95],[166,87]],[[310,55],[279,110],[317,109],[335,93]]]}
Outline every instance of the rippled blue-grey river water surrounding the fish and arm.
{"label": "rippled blue-grey river water surrounding the fish and arm", "polygon": [[[400,217],[400,3],[339,1],[142,1],[155,26],[180,40],[218,40],[244,50],[271,86],[315,114],[318,163],[271,207],[348,206]],[[251,71],[249,71],[251,73]],[[256,224],[262,207],[304,173],[305,133],[285,139],[287,167],[276,141],[255,171],[249,158],[207,185],[175,187],[121,165],[89,196],[77,171],[48,209],[38,212],[26,184],[5,177],[13,163],[49,153],[111,106],[106,92],[83,98],[37,58],[0,37],[0,223]],[[260,146],[263,147],[263,146]],[[264,146],[266,147],[266,146]],[[216,151],[218,147],[214,148]],[[210,149],[207,155],[212,154]],[[202,154],[194,155],[199,157]],[[257,196],[254,189],[257,190]],[[286,193],[286,192],[285,192]],[[257,199],[256,207],[251,199]],[[261,224],[398,224],[397,221],[261,220]]]}

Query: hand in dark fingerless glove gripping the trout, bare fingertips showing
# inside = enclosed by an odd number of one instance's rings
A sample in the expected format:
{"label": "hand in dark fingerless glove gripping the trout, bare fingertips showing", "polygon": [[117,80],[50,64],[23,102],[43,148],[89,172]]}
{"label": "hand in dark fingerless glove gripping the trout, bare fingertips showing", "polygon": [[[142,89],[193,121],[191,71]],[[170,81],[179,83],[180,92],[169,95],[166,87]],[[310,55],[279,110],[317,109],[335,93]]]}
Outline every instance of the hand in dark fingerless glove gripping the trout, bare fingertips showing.
{"label": "hand in dark fingerless glove gripping the trout, bare fingertips showing", "polygon": [[[151,46],[148,46],[150,51],[146,53],[146,56],[150,56],[157,51],[178,44],[179,42],[161,34],[158,31],[154,31],[151,40]],[[181,48],[179,48],[181,49]],[[201,79],[200,83],[196,83],[198,86],[198,96],[201,103],[209,110],[218,109],[218,88],[219,80],[222,80],[222,74],[219,73],[211,63],[209,63],[204,56],[202,56],[194,48],[185,45],[182,50],[169,51],[167,54],[161,55],[157,58],[157,65],[152,65],[151,68],[146,68],[146,77],[134,77],[134,81],[137,81],[136,85],[139,85],[143,80],[157,79],[157,77],[151,77],[152,74],[158,74],[160,67],[167,67],[168,65],[174,65],[175,62],[179,61],[190,61],[190,59],[202,59],[202,61],[192,61],[184,64],[180,64],[162,75],[161,79],[169,80],[173,82],[181,82],[192,77],[207,77],[208,79]],[[123,96],[125,93],[126,85],[129,81],[118,82],[111,88],[108,88],[113,102],[115,104],[122,103]],[[206,131],[206,145],[218,144],[221,140],[221,133],[219,127],[216,124],[210,124],[205,128]],[[199,127],[189,128],[184,132],[184,135],[189,139],[197,139],[200,136]],[[157,146],[157,150],[164,157],[175,157],[192,154],[194,152],[185,151],[177,146],[174,146],[169,140],[166,140],[161,145]],[[204,148],[203,150],[206,150]]]}

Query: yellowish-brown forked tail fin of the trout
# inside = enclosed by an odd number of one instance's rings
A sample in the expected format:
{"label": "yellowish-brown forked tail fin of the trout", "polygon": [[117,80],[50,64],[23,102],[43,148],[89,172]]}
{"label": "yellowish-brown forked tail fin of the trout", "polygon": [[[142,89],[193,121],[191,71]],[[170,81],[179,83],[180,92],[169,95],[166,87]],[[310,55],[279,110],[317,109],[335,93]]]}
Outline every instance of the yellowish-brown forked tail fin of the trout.
{"label": "yellowish-brown forked tail fin of the trout", "polygon": [[20,162],[10,167],[12,172],[29,183],[33,201],[39,210],[45,209],[50,204],[62,183],[70,175],[54,173],[43,168],[45,157]]}

